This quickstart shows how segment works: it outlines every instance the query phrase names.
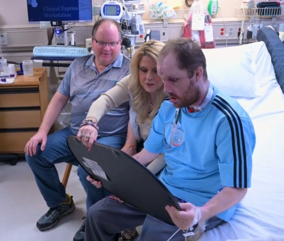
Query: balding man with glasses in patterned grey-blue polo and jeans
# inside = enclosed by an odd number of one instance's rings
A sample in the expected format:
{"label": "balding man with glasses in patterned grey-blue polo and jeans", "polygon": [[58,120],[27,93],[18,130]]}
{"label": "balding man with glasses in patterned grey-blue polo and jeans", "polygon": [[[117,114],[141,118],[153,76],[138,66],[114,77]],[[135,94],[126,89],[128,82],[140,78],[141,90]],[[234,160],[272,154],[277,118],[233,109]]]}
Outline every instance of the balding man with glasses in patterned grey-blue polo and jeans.
{"label": "balding man with glasses in patterned grey-blue polo and jeans", "polygon": [[[37,222],[39,230],[54,227],[59,219],[74,208],[72,196],[66,194],[54,164],[67,162],[77,165],[69,148],[67,137],[77,135],[91,104],[129,74],[130,60],[120,53],[122,35],[120,24],[111,19],[97,21],[92,30],[94,55],[75,59],[67,69],[63,81],[54,94],[38,132],[25,147],[26,160],[33,171],[38,188],[49,207]],[[48,135],[60,112],[71,103],[70,126]],[[125,102],[110,111],[99,122],[97,142],[116,148],[125,144],[129,120],[129,106]],[[88,137],[88,133],[84,133]],[[87,173],[78,168],[78,176],[87,193],[87,209],[106,196],[104,189],[97,189],[86,180]],[[83,240],[85,222],[74,240]]]}

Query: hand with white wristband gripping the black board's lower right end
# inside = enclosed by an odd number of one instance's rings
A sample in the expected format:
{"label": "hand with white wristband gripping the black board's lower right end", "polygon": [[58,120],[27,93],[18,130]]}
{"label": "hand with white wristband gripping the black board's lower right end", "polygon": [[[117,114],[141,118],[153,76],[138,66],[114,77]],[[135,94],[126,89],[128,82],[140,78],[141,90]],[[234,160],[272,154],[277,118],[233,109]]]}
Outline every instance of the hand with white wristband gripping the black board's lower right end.
{"label": "hand with white wristband gripping the black board's lower right end", "polygon": [[[181,230],[186,230],[194,225],[193,220],[197,207],[191,203],[180,203],[180,207],[183,211],[179,211],[172,206],[166,206],[166,210],[170,214],[174,224],[177,225]],[[198,221],[199,220],[197,220],[197,222]]]}

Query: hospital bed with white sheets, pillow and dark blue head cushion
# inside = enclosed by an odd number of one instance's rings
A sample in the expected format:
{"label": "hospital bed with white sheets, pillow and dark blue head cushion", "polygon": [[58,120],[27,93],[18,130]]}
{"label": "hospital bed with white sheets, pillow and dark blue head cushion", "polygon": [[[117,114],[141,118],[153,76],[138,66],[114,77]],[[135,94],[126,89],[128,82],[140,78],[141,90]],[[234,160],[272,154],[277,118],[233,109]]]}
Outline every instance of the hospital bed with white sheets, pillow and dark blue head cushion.
{"label": "hospital bed with white sheets, pillow and dark blue head cushion", "polygon": [[247,195],[230,222],[199,241],[284,241],[284,47],[271,28],[257,40],[204,50],[209,80],[249,113],[256,146]]}

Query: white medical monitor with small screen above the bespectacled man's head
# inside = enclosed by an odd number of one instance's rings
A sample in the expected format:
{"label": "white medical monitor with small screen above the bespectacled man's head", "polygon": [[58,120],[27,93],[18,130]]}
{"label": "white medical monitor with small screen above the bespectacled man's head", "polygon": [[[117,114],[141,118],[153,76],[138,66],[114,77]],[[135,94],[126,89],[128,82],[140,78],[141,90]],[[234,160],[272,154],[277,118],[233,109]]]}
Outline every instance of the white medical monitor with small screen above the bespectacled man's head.
{"label": "white medical monitor with small screen above the bespectacled man's head", "polygon": [[119,1],[106,1],[101,6],[101,17],[110,18],[117,22],[122,18],[123,9]]}

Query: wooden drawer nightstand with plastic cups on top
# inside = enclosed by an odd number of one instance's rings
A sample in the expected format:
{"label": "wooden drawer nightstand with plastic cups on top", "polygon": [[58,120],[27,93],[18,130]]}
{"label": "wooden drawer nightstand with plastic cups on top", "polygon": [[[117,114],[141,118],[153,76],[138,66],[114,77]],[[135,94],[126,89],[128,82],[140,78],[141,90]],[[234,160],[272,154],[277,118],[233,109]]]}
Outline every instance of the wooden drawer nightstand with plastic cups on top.
{"label": "wooden drawer nightstand with plastic cups on top", "polygon": [[24,153],[25,145],[41,125],[49,104],[46,68],[34,76],[18,75],[12,84],[0,84],[0,155]]}

